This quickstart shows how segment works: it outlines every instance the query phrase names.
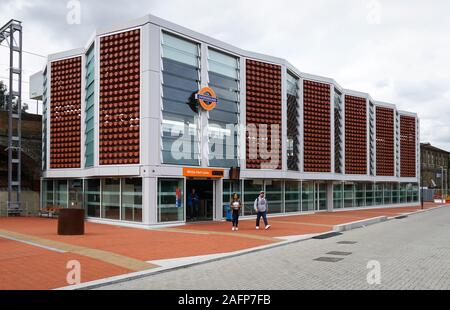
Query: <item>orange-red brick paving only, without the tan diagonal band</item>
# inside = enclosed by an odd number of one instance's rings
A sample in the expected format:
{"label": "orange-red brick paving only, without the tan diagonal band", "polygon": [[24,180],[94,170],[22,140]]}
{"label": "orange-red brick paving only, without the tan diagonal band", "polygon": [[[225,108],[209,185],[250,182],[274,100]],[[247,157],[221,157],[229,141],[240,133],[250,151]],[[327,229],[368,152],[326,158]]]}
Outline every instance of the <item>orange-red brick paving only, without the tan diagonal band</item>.
{"label": "orange-red brick paving only, without the tan diagonal band", "polygon": [[[425,208],[436,206],[426,204]],[[251,236],[280,237],[322,233],[332,230],[338,224],[382,215],[397,216],[418,210],[420,207],[279,216],[269,218],[272,228],[268,231],[256,231],[254,220],[241,221],[239,232],[232,232],[229,222],[189,224],[176,228],[179,233],[86,223],[85,236],[63,237],[56,235],[57,220],[45,218],[0,218],[0,229],[147,261],[238,251],[273,242]],[[203,235],[188,233],[189,231],[213,233]],[[73,259],[82,264],[83,282],[130,272],[100,260],[72,253],[52,252],[0,237],[0,289],[51,289],[66,286],[66,263]]]}

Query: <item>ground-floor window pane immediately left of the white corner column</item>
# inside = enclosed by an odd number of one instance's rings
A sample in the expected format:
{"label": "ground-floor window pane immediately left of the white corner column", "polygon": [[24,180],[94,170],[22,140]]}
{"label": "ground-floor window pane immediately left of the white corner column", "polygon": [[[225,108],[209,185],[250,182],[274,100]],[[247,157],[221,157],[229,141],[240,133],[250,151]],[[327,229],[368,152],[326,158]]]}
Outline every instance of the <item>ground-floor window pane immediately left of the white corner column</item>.
{"label": "ground-floor window pane immediately left of the white corner column", "polygon": [[142,179],[122,179],[122,220],[142,222]]}

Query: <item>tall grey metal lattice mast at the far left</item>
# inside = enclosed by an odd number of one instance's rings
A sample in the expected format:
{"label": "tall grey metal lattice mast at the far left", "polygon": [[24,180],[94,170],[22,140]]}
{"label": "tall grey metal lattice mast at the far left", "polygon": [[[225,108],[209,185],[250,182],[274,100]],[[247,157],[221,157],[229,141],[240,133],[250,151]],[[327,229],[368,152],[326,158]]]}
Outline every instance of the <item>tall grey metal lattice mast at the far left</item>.
{"label": "tall grey metal lattice mast at the far left", "polygon": [[0,28],[0,44],[9,47],[8,88],[8,203],[7,215],[20,215],[21,150],[22,150],[22,25],[10,20]]}

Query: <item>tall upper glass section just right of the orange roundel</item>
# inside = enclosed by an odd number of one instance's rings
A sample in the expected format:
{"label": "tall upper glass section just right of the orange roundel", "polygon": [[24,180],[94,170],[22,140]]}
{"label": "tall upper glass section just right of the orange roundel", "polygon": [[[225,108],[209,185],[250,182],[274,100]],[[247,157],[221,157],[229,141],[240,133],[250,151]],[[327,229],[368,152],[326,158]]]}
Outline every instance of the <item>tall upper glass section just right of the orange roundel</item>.
{"label": "tall upper glass section just right of the orange roundel", "polygon": [[218,104],[208,112],[209,166],[238,166],[239,154],[239,58],[208,50],[209,85]]}

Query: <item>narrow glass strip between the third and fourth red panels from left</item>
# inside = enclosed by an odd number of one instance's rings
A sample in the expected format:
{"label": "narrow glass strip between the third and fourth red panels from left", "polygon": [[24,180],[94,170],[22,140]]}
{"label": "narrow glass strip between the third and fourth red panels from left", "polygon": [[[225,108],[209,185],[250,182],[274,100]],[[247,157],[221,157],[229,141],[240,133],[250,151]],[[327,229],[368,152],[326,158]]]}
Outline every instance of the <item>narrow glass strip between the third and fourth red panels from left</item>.
{"label": "narrow glass strip between the third and fourth red panels from left", "polygon": [[298,126],[299,126],[299,96],[298,96],[298,78],[293,74],[287,74],[287,160],[288,169],[298,171]]}

